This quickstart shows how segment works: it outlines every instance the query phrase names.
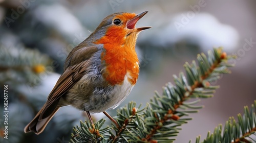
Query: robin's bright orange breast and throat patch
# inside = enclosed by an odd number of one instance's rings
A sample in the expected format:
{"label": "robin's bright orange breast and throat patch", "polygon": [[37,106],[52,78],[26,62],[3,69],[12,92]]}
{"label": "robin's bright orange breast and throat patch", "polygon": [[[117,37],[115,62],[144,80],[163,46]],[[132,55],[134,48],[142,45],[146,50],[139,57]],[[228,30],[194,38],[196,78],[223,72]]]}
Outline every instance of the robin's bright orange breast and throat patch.
{"label": "robin's bright orange breast and throat patch", "polygon": [[105,36],[95,42],[103,44],[101,60],[106,65],[103,77],[111,85],[122,84],[125,75],[132,85],[138,79],[139,60],[135,51],[137,37],[127,38],[125,35],[122,27],[110,27]]}

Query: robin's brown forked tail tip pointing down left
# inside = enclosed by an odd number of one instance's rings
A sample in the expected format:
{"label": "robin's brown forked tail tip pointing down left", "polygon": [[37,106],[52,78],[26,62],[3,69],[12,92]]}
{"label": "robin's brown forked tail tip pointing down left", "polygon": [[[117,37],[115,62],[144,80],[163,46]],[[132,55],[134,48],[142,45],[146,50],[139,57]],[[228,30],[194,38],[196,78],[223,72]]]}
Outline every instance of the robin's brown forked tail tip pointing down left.
{"label": "robin's brown forked tail tip pointing down left", "polygon": [[53,115],[58,111],[59,107],[56,107],[55,110],[46,118],[39,120],[39,116],[42,113],[42,109],[36,114],[33,120],[24,128],[24,132],[35,132],[35,134],[40,134],[46,128],[46,125],[52,119]]}

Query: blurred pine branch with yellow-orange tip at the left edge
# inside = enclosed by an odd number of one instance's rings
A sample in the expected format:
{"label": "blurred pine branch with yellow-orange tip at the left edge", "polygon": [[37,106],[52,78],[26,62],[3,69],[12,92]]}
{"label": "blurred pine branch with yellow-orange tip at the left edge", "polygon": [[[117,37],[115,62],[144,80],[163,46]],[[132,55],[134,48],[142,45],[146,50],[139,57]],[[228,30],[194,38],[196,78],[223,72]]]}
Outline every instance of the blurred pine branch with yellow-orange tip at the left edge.
{"label": "blurred pine branch with yellow-orange tip at the left edge", "polygon": [[49,63],[49,57],[37,50],[0,44],[0,83],[15,81],[11,84],[28,83],[34,86],[38,84],[39,80],[35,80],[39,79],[40,74],[45,74]]}

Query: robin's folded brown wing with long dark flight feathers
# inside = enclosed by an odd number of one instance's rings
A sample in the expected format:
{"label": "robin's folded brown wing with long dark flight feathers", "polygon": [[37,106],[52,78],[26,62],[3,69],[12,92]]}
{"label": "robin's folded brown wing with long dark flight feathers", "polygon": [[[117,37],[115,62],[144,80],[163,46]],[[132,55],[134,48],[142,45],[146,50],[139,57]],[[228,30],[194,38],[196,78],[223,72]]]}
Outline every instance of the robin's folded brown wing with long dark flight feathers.
{"label": "robin's folded brown wing with long dark flight feathers", "polygon": [[39,116],[39,121],[50,116],[55,110],[58,101],[77,81],[81,79],[90,66],[90,58],[98,51],[97,47],[83,47],[69,55],[66,60],[66,69],[58,79],[56,85],[48,96],[48,100]]}

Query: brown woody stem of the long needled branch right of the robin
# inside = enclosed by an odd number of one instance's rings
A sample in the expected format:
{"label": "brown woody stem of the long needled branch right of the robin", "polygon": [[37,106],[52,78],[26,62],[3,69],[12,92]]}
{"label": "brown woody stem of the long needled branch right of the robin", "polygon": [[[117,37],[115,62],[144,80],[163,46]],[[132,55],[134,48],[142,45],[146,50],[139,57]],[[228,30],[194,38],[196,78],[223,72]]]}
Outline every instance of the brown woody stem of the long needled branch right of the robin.
{"label": "brown woody stem of the long needled branch right of the robin", "polygon": [[[223,56],[223,55],[224,55],[224,56]],[[221,59],[226,59],[226,56],[225,56],[225,55],[226,55],[225,52],[222,53],[222,54],[221,54]],[[189,95],[190,95],[190,96],[193,94],[193,92],[194,92],[194,90],[195,90],[196,88],[204,87],[202,81],[203,81],[204,79],[206,79],[206,78],[212,73],[212,71],[214,71],[214,69],[215,69],[216,67],[219,66],[219,64],[221,63],[221,59],[218,60],[216,63],[214,63],[214,64],[208,69],[208,71],[207,71],[206,73],[204,73],[203,76],[201,76],[201,82],[195,81],[195,83],[194,83],[193,85],[191,85],[191,91],[189,92]],[[206,84],[207,84],[207,85],[210,85],[209,83],[206,83]],[[186,90],[186,91],[188,91],[188,90]],[[156,125],[157,125],[157,126],[156,126],[154,129],[152,129],[151,132],[150,132],[150,134],[147,134],[146,137],[143,138],[143,140],[147,140],[147,141],[151,141],[151,140],[152,140],[151,137],[152,137],[154,134],[156,134],[157,130],[161,129],[161,127],[162,127],[162,126],[159,126],[159,125],[162,125],[162,124],[158,124],[158,123],[165,123],[167,120],[170,120],[170,119],[173,119],[173,120],[176,120],[176,121],[179,120],[180,117],[179,117],[178,115],[175,115],[174,113],[175,113],[176,109],[179,108],[179,106],[182,105],[183,102],[184,102],[187,98],[189,98],[189,96],[188,96],[188,97],[183,96],[183,98],[181,99],[181,101],[179,101],[178,103],[176,103],[176,104],[174,105],[174,110],[169,109],[168,112],[165,114],[165,116],[164,116],[159,122],[156,122]],[[157,117],[157,115],[155,115],[155,117]]]}

